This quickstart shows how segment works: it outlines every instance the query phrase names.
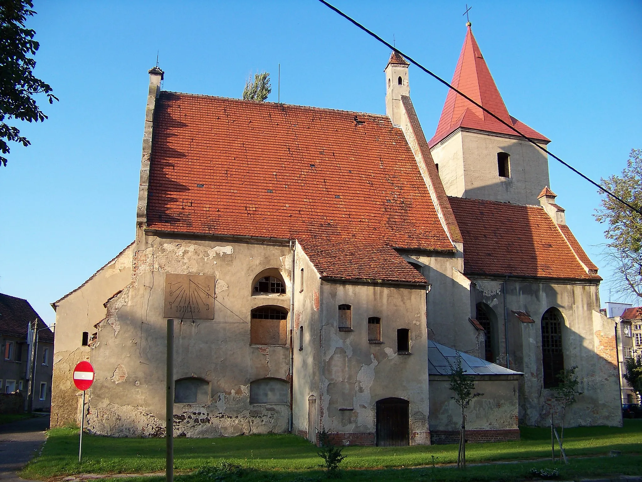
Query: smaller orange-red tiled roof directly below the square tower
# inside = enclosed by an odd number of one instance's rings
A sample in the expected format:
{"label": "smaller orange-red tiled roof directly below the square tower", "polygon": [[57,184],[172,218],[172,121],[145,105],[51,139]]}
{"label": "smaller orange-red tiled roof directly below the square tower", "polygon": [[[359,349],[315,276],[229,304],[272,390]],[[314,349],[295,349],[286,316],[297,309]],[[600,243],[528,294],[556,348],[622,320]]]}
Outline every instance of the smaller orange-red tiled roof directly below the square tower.
{"label": "smaller orange-red tiled roof directly below the square tower", "polygon": [[464,237],[465,274],[602,279],[582,267],[544,208],[448,199]]}

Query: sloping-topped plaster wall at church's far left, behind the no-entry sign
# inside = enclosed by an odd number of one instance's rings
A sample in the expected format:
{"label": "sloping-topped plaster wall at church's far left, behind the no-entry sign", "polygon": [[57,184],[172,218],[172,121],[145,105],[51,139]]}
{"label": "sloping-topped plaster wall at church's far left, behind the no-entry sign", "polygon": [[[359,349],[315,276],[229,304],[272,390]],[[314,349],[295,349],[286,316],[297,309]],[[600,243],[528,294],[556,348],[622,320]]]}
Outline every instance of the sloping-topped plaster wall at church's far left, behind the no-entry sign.
{"label": "sloping-topped plaster wall at church's far left, behind the no-entry sign", "polygon": [[120,253],[85,284],[56,302],[56,330],[51,385],[51,427],[80,424],[82,392],[73,384],[73,369],[89,360],[91,348],[82,346],[82,334],[96,332],[105,318],[104,303],[130,283],[134,246]]}

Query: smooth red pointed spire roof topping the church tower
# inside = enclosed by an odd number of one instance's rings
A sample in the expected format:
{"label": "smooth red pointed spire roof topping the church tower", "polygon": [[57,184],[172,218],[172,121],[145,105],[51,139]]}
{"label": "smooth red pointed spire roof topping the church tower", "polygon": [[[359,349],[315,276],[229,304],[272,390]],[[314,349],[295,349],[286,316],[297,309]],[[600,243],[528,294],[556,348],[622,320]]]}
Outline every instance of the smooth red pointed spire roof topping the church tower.
{"label": "smooth red pointed spire roof topping the church tower", "polygon": [[[470,26],[466,33],[462,53],[460,53],[451,85],[475,102],[483,105],[501,120],[514,126],[528,138],[550,142],[550,139],[545,138],[539,132],[508,114],[508,109],[501,98],[501,94],[499,94],[492,75],[490,75],[486,61],[482,56],[482,51],[477,45]],[[513,136],[519,135],[469,100],[455,93],[455,91],[449,90],[437,125],[437,132],[435,132],[435,136],[430,139],[428,144],[433,147],[459,127],[498,132],[499,134],[511,134]]]}

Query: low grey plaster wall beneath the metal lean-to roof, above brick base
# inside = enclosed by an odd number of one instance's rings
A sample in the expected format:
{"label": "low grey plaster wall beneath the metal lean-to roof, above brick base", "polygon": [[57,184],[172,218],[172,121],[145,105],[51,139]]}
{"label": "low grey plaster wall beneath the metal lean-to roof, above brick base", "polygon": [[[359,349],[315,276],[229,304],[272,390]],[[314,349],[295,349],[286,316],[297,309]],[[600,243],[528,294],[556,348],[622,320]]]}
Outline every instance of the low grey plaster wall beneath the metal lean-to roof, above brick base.
{"label": "low grey plaster wall beneath the metal lean-to roof, above brick base", "polygon": [[[483,393],[466,409],[467,430],[518,429],[520,375],[476,375],[475,391]],[[448,377],[430,376],[430,429],[458,431],[462,409],[455,404]]]}

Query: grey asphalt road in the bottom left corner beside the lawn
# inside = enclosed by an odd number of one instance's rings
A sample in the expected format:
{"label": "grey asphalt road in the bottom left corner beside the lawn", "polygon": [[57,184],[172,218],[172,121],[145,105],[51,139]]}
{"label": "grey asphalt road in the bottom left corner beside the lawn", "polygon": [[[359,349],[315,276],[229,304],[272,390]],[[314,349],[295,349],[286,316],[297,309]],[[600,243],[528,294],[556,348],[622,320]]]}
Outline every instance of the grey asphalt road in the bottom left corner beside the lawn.
{"label": "grey asphalt road in the bottom left corner beside the lawn", "polygon": [[16,472],[31,460],[44,443],[49,415],[0,425],[0,480],[22,481]]}

